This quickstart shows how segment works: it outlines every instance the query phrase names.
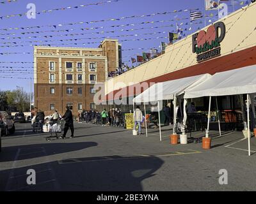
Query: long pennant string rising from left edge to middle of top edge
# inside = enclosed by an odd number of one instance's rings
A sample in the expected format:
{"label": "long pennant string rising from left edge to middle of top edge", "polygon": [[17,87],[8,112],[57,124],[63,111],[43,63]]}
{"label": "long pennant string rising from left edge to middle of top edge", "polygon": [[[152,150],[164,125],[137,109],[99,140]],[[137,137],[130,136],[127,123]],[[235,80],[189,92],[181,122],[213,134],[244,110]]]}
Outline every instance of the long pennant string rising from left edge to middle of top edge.
{"label": "long pennant string rising from left edge to middle of top edge", "polygon": [[[84,4],[84,5],[79,5],[79,6],[67,6],[67,7],[63,7],[63,8],[54,8],[51,10],[38,11],[35,13],[40,15],[40,14],[50,13],[52,11],[64,11],[64,10],[72,10],[72,9],[77,9],[77,8],[86,8],[88,6],[99,6],[102,4],[115,3],[118,1],[124,1],[124,0],[111,0],[111,1],[102,1],[102,2],[97,2],[97,3],[91,3],[91,4]],[[3,20],[3,18],[23,17],[23,16],[31,15],[31,14],[33,14],[33,13],[18,13],[18,14],[12,14],[12,15],[3,15],[3,16],[0,16],[0,18],[1,18],[1,20]]]}

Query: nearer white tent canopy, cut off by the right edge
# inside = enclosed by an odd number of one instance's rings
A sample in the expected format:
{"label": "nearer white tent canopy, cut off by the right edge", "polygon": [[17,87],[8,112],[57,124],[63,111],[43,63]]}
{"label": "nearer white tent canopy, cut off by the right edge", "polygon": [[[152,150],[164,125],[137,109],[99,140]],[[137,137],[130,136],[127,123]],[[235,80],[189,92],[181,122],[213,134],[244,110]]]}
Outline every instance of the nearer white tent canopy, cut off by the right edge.
{"label": "nearer white tent canopy, cut off by the right edge", "polygon": [[202,84],[189,86],[184,92],[184,98],[255,93],[256,65],[216,73]]}

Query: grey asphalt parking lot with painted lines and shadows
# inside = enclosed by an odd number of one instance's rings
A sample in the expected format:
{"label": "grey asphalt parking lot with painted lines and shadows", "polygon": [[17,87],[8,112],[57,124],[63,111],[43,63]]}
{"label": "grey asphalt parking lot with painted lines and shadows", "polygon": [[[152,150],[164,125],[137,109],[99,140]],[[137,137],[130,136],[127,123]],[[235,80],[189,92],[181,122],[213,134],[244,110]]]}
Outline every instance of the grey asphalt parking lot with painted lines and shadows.
{"label": "grey asphalt parking lot with painted lines and shadows", "polygon": [[[218,132],[212,149],[202,143],[170,145],[170,127],[163,141],[157,129],[132,136],[131,130],[75,124],[75,138],[45,140],[30,124],[16,124],[15,135],[3,137],[0,191],[255,191],[256,138],[252,156],[240,132]],[[200,137],[204,133],[193,133]],[[67,135],[68,136],[68,135]],[[29,169],[36,185],[26,182]],[[220,185],[220,170],[228,184]]]}

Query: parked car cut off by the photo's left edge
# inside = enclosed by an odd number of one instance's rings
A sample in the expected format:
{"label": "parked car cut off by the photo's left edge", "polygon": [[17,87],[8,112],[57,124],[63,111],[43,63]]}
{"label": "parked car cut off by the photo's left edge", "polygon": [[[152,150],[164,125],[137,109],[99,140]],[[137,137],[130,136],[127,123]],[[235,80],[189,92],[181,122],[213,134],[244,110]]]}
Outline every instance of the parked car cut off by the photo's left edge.
{"label": "parked car cut off by the photo's left edge", "polygon": [[1,152],[1,136],[15,133],[15,125],[12,116],[6,112],[0,112],[0,152]]}

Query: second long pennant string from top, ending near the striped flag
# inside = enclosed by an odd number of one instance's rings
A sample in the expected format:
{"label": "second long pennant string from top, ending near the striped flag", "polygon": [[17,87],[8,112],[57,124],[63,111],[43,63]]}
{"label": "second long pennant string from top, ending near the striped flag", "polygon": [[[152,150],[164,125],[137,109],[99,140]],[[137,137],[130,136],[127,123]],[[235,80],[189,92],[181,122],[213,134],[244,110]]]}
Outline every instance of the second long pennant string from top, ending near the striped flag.
{"label": "second long pennant string from top, ending near the striped flag", "polygon": [[[128,16],[128,17],[120,17],[120,18],[108,18],[108,19],[103,19],[103,20],[93,20],[93,21],[87,21],[87,22],[72,22],[72,23],[65,23],[65,24],[55,24],[55,25],[36,25],[36,26],[30,26],[30,27],[10,27],[10,28],[4,28],[4,29],[0,29],[0,31],[11,31],[11,30],[27,30],[27,29],[41,29],[42,27],[54,27],[55,29],[57,27],[63,27],[65,25],[68,26],[72,26],[72,25],[81,25],[81,24],[95,24],[98,22],[108,22],[108,21],[118,21],[118,20],[124,20],[124,19],[129,19],[129,18],[144,18],[144,17],[154,17],[157,15],[169,15],[169,14],[173,14],[173,13],[180,13],[180,12],[186,12],[186,11],[195,11],[195,10],[199,10],[198,8],[196,9],[187,9],[187,10],[174,10],[174,11],[166,11],[166,12],[162,12],[162,13],[152,13],[152,14],[147,14],[147,15],[132,15],[132,16]],[[0,17],[1,18],[1,17]],[[179,19],[179,18],[177,18]]]}

